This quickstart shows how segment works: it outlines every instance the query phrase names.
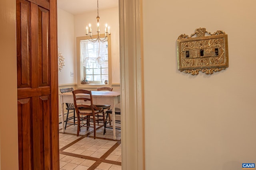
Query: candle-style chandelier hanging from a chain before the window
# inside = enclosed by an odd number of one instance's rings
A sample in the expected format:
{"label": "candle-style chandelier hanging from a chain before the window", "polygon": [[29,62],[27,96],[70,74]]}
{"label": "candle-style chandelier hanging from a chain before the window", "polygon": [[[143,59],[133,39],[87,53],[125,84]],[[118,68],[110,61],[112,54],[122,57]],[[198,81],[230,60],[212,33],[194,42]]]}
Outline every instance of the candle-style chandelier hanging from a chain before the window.
{"label": "candle-style chandelier hanging from a chain before the window", "polygon": [[[111,33],[110,33],[110,27],[108,26],[108,24],[106,24],[106,27],[105,27],[105,37],[103,38],[103,37],[100,37],[100,28],[99,28],[99,26],[100,26],[100,23],[99,23],[99,20],[100,20],[100,17],[99,17],[99,0],[97,0],[97,17],[96,17],[96,19],[97,19],[97,38],[95,38],[95,39],[93,39],[92,38],[92,27],[91,27],[91,24],[89,23],[89,32],[88,32],[88,26],[86,25],[86,36],[87,36],[87,39],[89,40],[89,41],[92,41],[92,42],[96,42],[96,41],[100,41],[100,42],[106,42],[106,41],[108,41],[108,39],[110,38],[110,35],[111,35]],[[88,33],[89,33],[89,36],[90,37],[88,37]]]}

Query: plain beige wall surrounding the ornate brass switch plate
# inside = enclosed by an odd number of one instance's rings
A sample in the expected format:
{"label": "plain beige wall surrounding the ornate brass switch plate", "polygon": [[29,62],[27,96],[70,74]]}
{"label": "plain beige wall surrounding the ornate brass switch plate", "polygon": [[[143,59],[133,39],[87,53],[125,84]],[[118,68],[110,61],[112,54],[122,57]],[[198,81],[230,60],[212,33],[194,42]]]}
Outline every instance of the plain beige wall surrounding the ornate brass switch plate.
{"label": "plain beige wall surrounding the ornate brass switch plate", "polygon": [[[240,170],[256,163],[255,6],[254,0],[143,1],[146,170]],[[228,34],[226,70],[178,71],[176,40],[199,27]]]}

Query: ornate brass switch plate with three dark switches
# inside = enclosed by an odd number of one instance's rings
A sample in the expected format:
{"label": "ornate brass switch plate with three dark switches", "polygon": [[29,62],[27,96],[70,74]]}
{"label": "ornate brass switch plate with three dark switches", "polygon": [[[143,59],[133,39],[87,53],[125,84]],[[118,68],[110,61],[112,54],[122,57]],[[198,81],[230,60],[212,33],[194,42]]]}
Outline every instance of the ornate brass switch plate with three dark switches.
{"label": "ornate brass switch plate with three dark switches", "polygon": [[[208,34],[208,36],[205,36]],[[228,35],[224,31],[211,34],[198,28],[190,37],[182,34],[177,40],[178,70],[197,75],[228,67]]]}

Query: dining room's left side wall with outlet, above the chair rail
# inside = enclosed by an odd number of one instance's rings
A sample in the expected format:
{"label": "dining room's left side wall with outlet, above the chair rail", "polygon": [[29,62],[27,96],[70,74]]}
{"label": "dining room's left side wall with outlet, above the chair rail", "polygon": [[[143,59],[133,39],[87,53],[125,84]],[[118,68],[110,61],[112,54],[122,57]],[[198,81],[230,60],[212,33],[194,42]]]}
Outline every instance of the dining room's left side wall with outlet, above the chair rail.
{"label": "dining room's left side wall with outlet, above the chair rail", "polygon": [[[58,52],[64,56],[65,66],[58,71],[59,84],[74,84],[76,78],[76,56],[74,38],[74,15],[58,8]],[[70,76],[74,72],[74,76]]]}

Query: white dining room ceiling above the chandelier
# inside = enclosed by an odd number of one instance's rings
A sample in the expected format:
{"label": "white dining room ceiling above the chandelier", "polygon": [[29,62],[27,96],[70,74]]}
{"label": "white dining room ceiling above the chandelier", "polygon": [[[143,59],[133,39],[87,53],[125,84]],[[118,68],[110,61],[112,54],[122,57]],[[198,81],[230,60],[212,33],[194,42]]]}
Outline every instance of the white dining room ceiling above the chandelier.
{"label": "white dining room ceiling above the chandelier", "polygon": [[[97,0],[57,0],[58,8],[73,14],[97,11]],[[99,0],[99,10],[118,7],[118,0]]]}

